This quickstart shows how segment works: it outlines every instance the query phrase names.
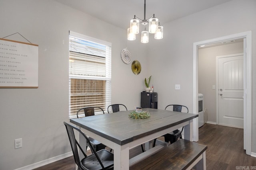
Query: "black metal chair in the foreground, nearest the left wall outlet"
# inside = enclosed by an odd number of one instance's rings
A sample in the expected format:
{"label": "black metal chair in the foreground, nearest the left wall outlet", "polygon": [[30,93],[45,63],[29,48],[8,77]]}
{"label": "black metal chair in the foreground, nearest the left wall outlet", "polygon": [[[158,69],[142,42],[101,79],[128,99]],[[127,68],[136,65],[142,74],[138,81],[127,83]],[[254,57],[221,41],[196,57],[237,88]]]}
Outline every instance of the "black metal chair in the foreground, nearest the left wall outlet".
{"label": "black metal chair in the foreground, nearest the left wall outlet", "polygon": [[[64,125],[66,126],[68,138],[70,141],[75,162],[78,166],[78,170],[114,169],[114,154],[106,149],[96,151],[91,145],[89,138],[80,129],[66,122],[64,122]],[[78,131],[86,139],[88,146],[92,151],[92,154],[86,155],[86,150],[83,150],[82,147],[79,145],[78,141],[76,140],[74,130]],[[80,160],[79,158],[78,147],[84,156],[82,160]]]}

